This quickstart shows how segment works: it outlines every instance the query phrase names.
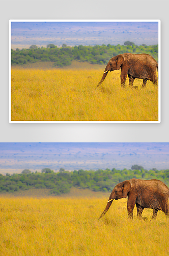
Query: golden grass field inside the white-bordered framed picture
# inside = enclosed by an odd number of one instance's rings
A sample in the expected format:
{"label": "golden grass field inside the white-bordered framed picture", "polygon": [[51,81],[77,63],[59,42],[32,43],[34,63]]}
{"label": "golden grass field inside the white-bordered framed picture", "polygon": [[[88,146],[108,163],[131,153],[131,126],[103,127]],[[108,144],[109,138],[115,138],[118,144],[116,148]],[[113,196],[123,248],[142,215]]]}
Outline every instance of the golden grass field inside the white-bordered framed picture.
{"label": "golden grass field inside the white-bordered framed picture", "polygon": [[96,86],[100,70],[11,71],[12,121],[157,121],[158,88],[136,79],[121,88],[120,71],[109,72]]}

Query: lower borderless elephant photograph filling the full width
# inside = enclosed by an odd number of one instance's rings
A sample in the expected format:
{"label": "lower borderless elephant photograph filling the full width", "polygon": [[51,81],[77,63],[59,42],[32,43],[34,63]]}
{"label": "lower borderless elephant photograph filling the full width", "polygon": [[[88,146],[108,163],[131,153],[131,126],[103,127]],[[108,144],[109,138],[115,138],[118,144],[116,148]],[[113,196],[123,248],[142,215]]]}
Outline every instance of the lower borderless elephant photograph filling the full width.
{"label": "lower borderless elephant photograph filling the full width", "polygon": [[168,142],[0,142],[0,152],[1,255],[168,254]]}

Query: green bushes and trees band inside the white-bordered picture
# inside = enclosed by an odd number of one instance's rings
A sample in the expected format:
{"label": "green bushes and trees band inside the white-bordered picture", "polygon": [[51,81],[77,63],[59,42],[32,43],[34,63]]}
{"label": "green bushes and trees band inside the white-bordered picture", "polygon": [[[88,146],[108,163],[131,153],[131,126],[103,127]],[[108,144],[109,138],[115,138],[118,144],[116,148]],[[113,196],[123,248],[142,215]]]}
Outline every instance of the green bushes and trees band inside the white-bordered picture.
{"label": "green bushes and trees band inside the white-bordered picture", "polygon": [[[129,44],[130,43],[130,44]],[[47,45],[47,48],[38,48],[33,45],[30,49],[11,49],[11,65],[23,65],[40,61],[51,61],[53,67],[64,67],[71,65],[72,60],[87,61],[92,64],[107,64],[108,60],[118,54],[129,53],[147,53],[158,62],[158,45],[137,46],[133,42],[125,42],[125,45],[112,46],[74,46],[67,47],[63,45],[57,48],[54,45]],[[127,44],[127,45],[126,45]]]}

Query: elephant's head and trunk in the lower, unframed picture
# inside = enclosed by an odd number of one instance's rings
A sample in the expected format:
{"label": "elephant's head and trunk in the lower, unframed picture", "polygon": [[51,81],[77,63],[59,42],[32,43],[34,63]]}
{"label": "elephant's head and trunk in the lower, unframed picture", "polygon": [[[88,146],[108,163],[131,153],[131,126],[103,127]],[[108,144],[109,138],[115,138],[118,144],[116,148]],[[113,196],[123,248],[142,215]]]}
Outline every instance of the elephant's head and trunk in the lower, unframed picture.
{"label": "elephant's head and trunk in the lower, unframed picture", "polygon": [[101,214],[100,218],[102,218],[106,214],[107,210],[109,209],[109,207],[110,207],[110,205],[111,205],[111,203],[114,199],[118,200],[118,199],[121,199],[121,198],[126,198],[128,192],[131,189],[131,187],[132,187],[132,185],[131,185],[131,182],[129,180],[125,180],[125,181],[117,184],[114,187],[114,189],[112,190],[112,192],[109,196],[107,205],[106,205],[103,213]]}

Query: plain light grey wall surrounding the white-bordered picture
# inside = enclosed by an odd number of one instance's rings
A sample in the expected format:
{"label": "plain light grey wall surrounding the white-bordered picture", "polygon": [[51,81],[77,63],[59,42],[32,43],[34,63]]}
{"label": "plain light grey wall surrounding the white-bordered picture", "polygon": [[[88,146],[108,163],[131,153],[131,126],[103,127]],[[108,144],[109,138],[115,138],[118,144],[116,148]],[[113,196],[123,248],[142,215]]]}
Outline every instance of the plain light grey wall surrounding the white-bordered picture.
{"label": "plain light grey wall surrounding the white-bordered picture", "polygon": [[[168,142],[168,1],[1,1],[0,142]],[[161,123],[9,123],[9,19],[160,19]],[[138,106],[139,108],[139,106]]]}

